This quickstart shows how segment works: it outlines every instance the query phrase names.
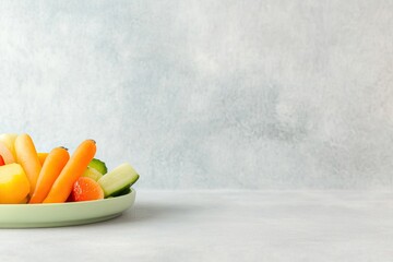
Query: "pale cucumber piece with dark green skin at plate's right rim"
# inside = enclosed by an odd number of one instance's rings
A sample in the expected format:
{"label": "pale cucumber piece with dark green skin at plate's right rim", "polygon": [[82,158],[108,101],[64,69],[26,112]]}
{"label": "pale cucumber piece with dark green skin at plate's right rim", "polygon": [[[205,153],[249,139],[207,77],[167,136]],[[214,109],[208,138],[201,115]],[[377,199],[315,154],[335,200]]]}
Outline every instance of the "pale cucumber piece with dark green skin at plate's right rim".
{"label": "pale cucumber piece with dark green skin at plate's right rim", "polygon": [[130,164],[121,164],[107,175],[103,176],[98,183],[103,188],[105,196],[109,196],[124,188],[129,188],[139,179],[138,172]]}

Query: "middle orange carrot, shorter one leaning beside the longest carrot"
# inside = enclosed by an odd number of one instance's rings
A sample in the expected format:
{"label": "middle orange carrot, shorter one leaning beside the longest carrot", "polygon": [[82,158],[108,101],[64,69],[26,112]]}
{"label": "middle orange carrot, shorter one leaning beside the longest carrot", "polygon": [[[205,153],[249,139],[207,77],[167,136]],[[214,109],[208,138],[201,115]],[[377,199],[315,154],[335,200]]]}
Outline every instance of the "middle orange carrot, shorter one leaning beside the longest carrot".
{"label": "middle orange carrot, shorter one leaning beside the longest carrot", "polygon": [[43,169],[39,172],[32,199],[29,200],[31,204],[41,203],[45,200],[69,159],[70,154],[64,147],[56,147],[48,154]]}

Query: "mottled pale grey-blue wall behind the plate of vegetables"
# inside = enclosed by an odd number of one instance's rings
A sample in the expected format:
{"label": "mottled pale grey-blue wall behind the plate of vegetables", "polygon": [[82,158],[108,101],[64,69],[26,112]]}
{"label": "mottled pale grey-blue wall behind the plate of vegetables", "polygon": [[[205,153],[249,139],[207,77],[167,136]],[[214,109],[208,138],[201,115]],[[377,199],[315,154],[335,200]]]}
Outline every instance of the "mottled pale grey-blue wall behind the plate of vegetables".
{"label": "mottled pale grey-blue wall behind the plate of vegetables", "polygon": [[393,187],[393,1],[1,1],[0,131],[139,188]]}

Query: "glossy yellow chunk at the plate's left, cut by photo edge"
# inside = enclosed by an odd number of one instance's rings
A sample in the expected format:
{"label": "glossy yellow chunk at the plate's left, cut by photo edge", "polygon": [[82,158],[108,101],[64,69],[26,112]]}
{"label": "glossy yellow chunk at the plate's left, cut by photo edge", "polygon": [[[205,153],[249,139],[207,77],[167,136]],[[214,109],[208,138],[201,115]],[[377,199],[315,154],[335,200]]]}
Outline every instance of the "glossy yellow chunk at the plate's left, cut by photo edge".
{"label": "glossy yellow chunk at the plate's left, cut by photo edge", "polygon": [[29,182],[19,164],[0,166],[0,204],[22,203],[29,193]]}

